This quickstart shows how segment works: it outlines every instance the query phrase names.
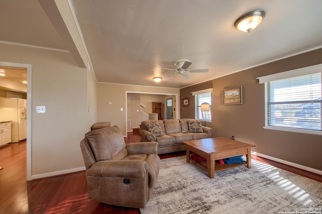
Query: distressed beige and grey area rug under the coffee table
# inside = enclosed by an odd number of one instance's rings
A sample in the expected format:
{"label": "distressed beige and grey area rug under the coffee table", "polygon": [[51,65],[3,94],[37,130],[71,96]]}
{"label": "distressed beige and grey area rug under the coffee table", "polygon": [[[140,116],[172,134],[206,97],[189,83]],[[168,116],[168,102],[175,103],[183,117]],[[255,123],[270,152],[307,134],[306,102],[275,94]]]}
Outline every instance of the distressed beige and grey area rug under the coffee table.
{"label": "distressed beige and grey area rug under the coffee table", "polygon": [[206,171],[186,156],[161,160],[153,194],[142,214],[150,213],[322,213],[322,183],[252,160]]}

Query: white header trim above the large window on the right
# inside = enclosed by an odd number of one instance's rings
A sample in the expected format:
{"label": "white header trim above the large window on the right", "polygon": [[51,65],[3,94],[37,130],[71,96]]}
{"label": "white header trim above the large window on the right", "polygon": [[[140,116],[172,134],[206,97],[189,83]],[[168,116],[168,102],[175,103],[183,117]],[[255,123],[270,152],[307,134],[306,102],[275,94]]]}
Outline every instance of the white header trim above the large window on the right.
{"label": "white header trim above the large window on the right", "polygon": [[313,65],[309,67],[294,69],[291,71],[285,71],[277,74],[271,74],[263,77],[257,77],[256,79],[260,80],[259,83],[266,83],[274,80],[282,80],[282,79],[299,77],[299,76],[308,75],[308,74],[321,73],[321,72],[322,72],[322,64],[318,64],[318,65]]}

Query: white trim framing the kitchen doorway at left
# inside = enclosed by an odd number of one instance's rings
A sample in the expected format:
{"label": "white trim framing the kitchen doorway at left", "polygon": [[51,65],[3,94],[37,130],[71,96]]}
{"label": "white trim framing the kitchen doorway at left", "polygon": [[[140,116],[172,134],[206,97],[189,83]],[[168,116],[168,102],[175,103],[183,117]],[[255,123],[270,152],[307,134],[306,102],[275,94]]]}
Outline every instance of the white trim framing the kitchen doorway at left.
{"label": "white trim framing the kitchen doorway at left", "polygon": [[31,180],[31,89],[32,89],[32,65],[23,63],[0,62],[0,66],[12,68],[25,68],[27,69],[27,143],[26,143],[26,166],[27,166],[27,180]]}

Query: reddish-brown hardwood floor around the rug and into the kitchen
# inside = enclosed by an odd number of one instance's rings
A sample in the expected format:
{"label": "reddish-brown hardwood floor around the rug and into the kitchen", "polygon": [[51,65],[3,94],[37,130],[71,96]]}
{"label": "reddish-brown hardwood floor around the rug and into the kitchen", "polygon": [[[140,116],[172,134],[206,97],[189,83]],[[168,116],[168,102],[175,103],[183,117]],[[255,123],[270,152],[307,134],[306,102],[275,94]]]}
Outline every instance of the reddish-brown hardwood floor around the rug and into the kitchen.
{"label": "reddish-brown hardwood floor around the rug and into the kitchen", "polygon": [[[139,142],[128,134],[127,143]],[[169,158],[185,152],[160,155]],[[252,155],[253,159],[322,182],[322,176]],[[26,141],[0,147],[0,213],[140,213],[139,209],[112,206],[88,198],[85,172],[26,181]]]}

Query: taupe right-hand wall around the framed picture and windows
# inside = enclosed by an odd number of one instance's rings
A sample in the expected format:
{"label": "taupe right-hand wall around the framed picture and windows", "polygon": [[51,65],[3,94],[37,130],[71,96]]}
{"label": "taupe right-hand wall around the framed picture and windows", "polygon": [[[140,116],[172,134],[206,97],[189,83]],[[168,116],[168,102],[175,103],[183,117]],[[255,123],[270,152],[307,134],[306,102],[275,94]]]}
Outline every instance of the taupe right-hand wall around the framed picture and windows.
{"label": "taupe right-hand wall around the framed picture and windows", "polygon": [[[322,170],[322,136],[286,131],[268,130],[265,126],[264,84],[257,77],[293,70],[322,63],[322,49],[311,51],[267,65],[248,69],[212,81],[212,123],[214,137],[235,136],[242,142],[256,145],[254,151],[292,163]],[[221,90],[234,86],[243,86],[243,105],[222,105]],[[202,84],[184,88],[182,98],[191,91],[203,89]],[[181,108],[181,115],[193,117],[194,112]]]}

